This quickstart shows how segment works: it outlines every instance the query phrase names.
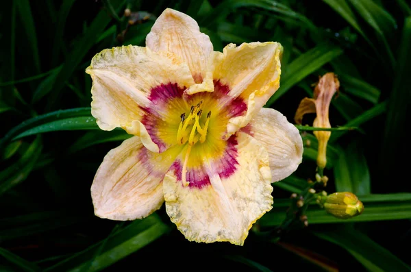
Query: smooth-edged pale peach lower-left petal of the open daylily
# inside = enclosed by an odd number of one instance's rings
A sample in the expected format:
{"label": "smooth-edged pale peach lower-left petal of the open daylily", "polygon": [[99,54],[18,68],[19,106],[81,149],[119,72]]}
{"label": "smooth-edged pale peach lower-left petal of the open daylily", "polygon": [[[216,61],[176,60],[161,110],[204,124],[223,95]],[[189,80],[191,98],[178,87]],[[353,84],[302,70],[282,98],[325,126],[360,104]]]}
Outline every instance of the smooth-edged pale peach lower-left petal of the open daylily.
{"label": "smooth-edged pale peach lower-left petal of the open daylily", "polygon": [[134,220],[158,210],[162,179],[178,153],[152,153],[139,137],[129,138],[105,156],[91,186],[97,217]]}

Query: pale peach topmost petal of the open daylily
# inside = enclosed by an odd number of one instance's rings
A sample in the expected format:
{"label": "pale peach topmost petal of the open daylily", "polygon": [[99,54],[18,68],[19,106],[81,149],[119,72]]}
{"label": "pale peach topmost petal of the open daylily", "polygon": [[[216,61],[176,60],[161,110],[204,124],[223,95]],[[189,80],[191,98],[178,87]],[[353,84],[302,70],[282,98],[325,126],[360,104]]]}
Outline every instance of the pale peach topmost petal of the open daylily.
{"label": "pale peach topmost petal of the open daylily", "polygon": [[178,55],[190,67],[196,83],[206,78],[212,43],[190,16],[167,8],[147,35],[146,45],[152,51],[170,51]]}

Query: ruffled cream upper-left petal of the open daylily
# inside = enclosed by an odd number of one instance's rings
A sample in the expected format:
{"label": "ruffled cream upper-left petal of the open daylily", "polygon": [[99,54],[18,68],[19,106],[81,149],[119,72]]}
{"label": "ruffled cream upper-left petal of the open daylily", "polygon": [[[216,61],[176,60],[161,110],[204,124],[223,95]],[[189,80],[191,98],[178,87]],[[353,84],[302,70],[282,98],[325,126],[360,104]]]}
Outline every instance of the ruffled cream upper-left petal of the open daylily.
{"label": "ruffled cream upper-left petal of the open daylily", "polygon": [[103,130],[128,127],[140,121],[141,108],[154,107],[151,90],[162,84],[195,84],[188,66],[171,53],[145,47],[114,47],[97,53],[86,73],[92,77],[91,113]]}

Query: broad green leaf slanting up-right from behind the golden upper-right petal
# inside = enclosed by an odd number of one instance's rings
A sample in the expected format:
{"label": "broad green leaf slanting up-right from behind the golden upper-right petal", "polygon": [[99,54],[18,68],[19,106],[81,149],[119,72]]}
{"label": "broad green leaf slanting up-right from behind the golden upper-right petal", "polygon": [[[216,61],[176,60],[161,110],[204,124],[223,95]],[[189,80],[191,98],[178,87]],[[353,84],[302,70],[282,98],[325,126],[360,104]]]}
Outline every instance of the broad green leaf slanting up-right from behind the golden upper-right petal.
{"label": "broad green leaf slanting up-right from behind the golden upper-right petal", "polygon": [[302,79],[342,53],[343,49],[339,47],[323,44],[300,55],[288,64],[288,66],[284,67],[281,85],[277,92],[267,101],[266,107],[271,106],[279,97],[292,88],[292,86],[295,86],[295,84],[299,83]]}

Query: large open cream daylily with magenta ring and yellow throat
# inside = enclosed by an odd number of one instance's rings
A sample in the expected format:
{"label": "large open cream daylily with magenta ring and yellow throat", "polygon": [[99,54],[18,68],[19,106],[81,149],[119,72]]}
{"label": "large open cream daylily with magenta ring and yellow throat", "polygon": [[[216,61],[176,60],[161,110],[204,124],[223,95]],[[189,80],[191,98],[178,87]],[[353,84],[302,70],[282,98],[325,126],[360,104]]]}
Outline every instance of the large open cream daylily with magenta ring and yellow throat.
{"label": "large open cream daylily with magenta ring and yellow throat", "polygon": [[242,245],[271,210],[271,182],[301,162],[298,130],[262,109],[279,88],[282,47],[252,42],[213,51],[197,23],[171,9],[146,44],[103,50],[86,70],[99,127],[135,135],[99,167],[95,214],[141,219],[165,200],[188,240]]}

